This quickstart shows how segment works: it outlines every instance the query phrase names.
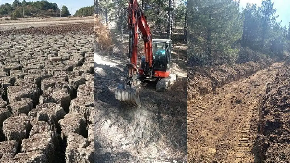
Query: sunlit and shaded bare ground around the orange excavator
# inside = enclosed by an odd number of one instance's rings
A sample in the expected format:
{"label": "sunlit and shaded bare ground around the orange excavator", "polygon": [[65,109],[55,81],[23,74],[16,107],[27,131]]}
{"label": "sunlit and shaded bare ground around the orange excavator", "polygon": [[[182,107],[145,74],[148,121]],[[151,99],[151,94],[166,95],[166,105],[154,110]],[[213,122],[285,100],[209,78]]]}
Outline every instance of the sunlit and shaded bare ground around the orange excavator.
{"label": "sunlit and shaded bare ground around the orange excavator", "polygon": [[142,107],[137,109],[115,99],[115,89],[128,71],[128,37],[122,43],[120,35],[112,34],[117,48],[95,51],[96,162],[186,162],[186,68],[181,68],[186,67],[186,45],[175,42],[173,47],[178,81],[166,92],[157,92],[155,83],[142,83]]}

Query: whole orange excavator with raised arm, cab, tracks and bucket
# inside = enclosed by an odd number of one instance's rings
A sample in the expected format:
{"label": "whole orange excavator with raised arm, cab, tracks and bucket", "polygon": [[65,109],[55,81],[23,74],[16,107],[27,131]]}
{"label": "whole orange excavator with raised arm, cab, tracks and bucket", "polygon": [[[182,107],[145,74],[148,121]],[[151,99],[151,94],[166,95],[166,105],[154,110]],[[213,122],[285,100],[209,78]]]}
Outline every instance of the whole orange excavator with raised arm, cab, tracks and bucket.
{"label": "whole orange excavator with raised arm, cab, tracks and bucket", "polygon": [[[170,67],[172,41],[170,39],[152,39],[146,16],[137,0],[129,0],[128,28],[128,57],[130,58],[129,63],[126,64],[128,75],[125,83],[117,86],[115,97],[125,105],[141,107],[139,99],[141,81],[156,81],[156,90],[164,92],[177,79],[176,74],[171,74]],[[139,69],[137,67],[138,29],[142,33],[145,51]]]}

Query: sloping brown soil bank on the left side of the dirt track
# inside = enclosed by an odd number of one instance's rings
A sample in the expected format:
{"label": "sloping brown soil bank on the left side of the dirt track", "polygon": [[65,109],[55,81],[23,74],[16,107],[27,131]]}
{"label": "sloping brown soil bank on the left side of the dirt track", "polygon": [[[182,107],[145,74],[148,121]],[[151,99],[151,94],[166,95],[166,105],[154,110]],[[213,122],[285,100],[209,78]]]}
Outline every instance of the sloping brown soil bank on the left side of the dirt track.
{"label": "sloping brown soil bank on the left side of the dirt track", "polygon": [[189,67],[187,70],[187,100],[198,99],[200,96],[210,93],[217,87],[254,74],[270,66],[272,63],[273,61],[268,59],[259,62],[239,63],[231,66]]}

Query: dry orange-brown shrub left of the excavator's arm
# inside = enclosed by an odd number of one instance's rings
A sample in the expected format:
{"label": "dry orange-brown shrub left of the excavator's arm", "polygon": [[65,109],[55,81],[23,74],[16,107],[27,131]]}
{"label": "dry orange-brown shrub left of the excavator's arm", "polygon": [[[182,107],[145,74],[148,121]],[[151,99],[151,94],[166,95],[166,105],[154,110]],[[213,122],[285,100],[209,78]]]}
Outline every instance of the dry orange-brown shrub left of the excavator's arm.
{"label": "dry orange-brown shrub left of the excavator's arm", "polygon": [[113,47],[110,30],[102,21],[102,17],[94,15],[94,32],[97,47],[101,50],[109,50]]}

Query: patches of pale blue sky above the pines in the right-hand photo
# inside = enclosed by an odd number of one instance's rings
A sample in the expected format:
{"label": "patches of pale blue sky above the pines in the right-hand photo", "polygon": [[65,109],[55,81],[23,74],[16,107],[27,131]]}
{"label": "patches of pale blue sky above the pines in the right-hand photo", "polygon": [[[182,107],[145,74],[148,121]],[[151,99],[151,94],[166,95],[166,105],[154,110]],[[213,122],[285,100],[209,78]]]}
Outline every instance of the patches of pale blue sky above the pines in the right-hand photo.
{"label": "patches of pale blue sky above the pines in the right-hand photo", "polygon": [[[282,20],[282,26],[288,27],[290,22],[290,1],[289,0],[272,0],[274,2],[274,8],[277,9],[276,15],[279,15],[277,21]],[[249,3],[256,3],[257,6],[261,6],[262,0],[240,0],[240,6],[245,7]]]}

